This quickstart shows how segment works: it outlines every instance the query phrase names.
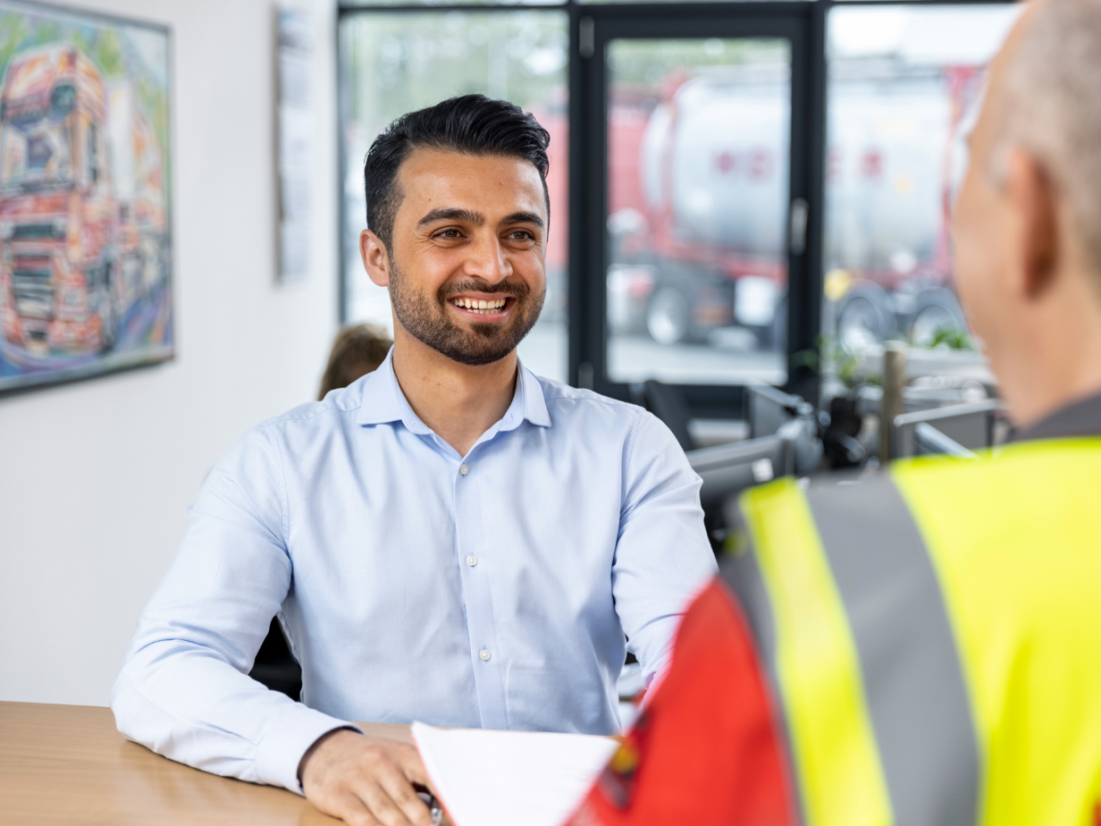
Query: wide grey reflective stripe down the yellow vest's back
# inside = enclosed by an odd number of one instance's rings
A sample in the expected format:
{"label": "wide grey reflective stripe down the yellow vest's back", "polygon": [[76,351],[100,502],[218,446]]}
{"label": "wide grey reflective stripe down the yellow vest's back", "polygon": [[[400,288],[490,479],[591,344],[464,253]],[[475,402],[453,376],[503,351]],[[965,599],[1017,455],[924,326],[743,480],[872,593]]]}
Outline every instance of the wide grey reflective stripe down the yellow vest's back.
{"label": "wide grey reflective stripe down the yellow vest's back", "polygon": [[889,477],[811,485],[896,826],[972,826],[979,752],[940,584]]}

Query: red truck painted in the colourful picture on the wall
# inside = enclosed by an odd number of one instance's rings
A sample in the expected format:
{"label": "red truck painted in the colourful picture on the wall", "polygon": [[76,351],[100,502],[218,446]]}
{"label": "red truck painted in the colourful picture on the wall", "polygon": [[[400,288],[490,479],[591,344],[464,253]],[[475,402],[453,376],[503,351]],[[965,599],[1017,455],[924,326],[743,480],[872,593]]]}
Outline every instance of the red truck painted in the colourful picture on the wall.
{"label": "red truck painted in the colourful picture on the wall", "polygon": [[115,346],[166,275],[161,144],[129,85],[80,48],[9,62],[0,83],[0,346],[33,367]]}

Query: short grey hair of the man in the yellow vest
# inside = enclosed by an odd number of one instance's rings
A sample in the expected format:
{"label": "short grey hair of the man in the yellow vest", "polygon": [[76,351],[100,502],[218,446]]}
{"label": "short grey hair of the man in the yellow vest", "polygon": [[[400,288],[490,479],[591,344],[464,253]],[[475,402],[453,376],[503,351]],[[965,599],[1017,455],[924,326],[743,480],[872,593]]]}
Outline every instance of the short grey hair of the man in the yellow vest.
{"label": "short grey hair of the man in the yellow vest", "polygon": [[992,161],[1004,167],[1011,145],[1036,159],[1101,289],[1101,0],[1040,0],[1011,55],[1004,88]]}

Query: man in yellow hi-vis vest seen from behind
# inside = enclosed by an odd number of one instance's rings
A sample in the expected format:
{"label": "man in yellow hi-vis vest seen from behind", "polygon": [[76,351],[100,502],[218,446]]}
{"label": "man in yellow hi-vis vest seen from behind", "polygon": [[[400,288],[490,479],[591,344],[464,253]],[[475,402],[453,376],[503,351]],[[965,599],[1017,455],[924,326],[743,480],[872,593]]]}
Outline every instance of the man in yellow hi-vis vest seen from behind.
{"label": "man in yellow hi-vis vest seen from behind", "polygon": [[749,491],[573,826],[1101,826],[1101,0],[1029,3],[969,143],[1015,438]]}

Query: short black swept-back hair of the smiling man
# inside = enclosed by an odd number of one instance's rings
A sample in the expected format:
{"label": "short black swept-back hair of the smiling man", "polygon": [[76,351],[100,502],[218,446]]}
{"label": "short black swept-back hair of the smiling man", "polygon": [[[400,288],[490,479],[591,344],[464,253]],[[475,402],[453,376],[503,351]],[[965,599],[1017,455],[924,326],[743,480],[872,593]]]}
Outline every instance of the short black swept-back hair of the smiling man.
{"label": "short black swept-back hair of the smiling man", "polygon": [[367,226],[390,249],[394,216],[402,202],[397,169],[415,149],[436,149],[467,155],[501,155],[531,161],[547,194],[547,144],[550,134],[534,116],[508,100],[462,95],[403,115],[374,139],[363,163]]}

